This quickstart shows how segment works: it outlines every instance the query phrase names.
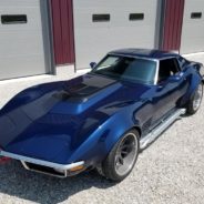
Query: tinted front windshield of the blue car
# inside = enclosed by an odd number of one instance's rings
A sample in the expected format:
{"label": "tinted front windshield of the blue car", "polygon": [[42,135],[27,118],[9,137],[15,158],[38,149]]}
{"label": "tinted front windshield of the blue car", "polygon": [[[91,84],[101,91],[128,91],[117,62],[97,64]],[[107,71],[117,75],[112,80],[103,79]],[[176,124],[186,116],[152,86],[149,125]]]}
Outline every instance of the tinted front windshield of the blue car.
{"label": "tinted front windshield of the blue car", "polygon": [[108,55],[92,70],[92,73],[119,80],[154,83],[156,62],[147,59]]}

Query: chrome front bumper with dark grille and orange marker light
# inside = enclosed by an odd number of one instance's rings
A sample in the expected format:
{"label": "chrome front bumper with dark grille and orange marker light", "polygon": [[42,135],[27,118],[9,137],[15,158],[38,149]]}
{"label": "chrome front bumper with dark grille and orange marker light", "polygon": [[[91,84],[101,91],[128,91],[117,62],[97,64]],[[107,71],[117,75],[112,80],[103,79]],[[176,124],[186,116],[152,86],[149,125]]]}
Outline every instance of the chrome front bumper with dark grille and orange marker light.
{"label": "chrome front bumper with dark grille and orange marker light", "polygon": [[80,161],[71,164],[58,164],[53,162],[48,162],[48,161],[42,161],[38,159],[32,159],[32,157],[9,153],[6,151],[0,151],[0,156],[18,160],[29,171],[49,174],[57,177],[71,176],[85,170],[84,161]]}

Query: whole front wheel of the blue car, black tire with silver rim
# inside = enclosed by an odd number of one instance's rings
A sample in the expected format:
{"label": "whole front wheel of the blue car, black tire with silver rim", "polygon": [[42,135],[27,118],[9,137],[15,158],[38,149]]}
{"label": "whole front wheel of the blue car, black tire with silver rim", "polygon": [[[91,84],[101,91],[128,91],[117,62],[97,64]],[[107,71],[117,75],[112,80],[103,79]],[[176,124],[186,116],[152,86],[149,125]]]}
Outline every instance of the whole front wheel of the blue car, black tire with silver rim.
{"label": "whole front wheel of the blue car, black tire with silver rim", "polygon": [[[140,134],[136,130],[131,130],[128,133],[125,133],[120,139],[120,141],[113,146],[112,151],[110,152],[105,161],[102,162],[100,167],[100,173],[113,182],[123,181],[131,173],[137,160],[137,155],[140,151],[139,139],[140,139]],[[128,165],[129,162],[130,162],[130,165]],[[121,163],[120,164],[121,166],[119,165],[119,163]],[[125,170],[125,165],[126,165],[126,170]]]}

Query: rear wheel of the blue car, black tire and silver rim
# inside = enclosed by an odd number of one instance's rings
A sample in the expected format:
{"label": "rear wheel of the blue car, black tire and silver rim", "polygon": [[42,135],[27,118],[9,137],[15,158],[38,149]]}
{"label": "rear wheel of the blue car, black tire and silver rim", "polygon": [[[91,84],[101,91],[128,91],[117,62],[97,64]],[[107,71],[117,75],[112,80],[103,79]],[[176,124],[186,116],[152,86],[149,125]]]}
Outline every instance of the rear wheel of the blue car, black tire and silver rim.
{"label": "rear wheel of the blue car, black tire and silver rim", "polygon": [[[201,106],[202,98],[203,98],[203,83],[200,83],[186,105],[186,113],[188,115],[193,115],[198,111]],[[195,105],[196,100],[197,100],[197,104]]]}

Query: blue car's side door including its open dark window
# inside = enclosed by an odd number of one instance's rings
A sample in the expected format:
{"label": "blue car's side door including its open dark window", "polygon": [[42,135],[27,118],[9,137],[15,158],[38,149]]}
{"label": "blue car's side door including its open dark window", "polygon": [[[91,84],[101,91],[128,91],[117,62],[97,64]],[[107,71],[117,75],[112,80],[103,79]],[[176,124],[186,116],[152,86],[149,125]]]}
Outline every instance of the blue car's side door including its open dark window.
{"label": "blue car's side door including its open dark window", "polygon": [[176,104],[187,88],[186,74],[180,68],[177,59],[171,58],[161,60],[153,98],[154,123],[176,108]]}

